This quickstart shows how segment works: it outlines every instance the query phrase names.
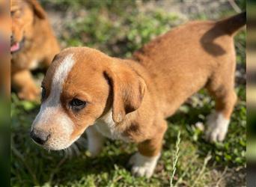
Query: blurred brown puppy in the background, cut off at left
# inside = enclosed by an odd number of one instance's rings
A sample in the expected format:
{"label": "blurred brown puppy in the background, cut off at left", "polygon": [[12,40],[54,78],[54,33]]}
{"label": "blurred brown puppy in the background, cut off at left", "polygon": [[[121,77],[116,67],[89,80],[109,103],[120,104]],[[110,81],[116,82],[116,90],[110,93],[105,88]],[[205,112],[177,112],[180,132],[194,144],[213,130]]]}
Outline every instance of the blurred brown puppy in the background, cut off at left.
{"label": "blurred brown puppy in the background, cut off at left", "polygon": [[10,14],[12,85],[21,99],[33,100],[40,90],[35,85],[30,70],[49,67],[60,49],[46,12],[36,0],[12,0]]}

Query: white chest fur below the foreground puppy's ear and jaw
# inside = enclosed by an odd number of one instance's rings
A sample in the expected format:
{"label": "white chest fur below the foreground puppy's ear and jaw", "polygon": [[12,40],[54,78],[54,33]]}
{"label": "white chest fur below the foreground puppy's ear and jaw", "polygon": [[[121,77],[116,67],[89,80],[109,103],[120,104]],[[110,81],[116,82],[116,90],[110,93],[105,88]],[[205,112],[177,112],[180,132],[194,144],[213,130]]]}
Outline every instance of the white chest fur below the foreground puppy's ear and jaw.
{"label": "white chest fur below the foreground puppy's ear and jaw", "polygon": [[129,138],[122,135],[115,127],[115,122],[112,120],[112,111],[109,111],[105,116],[101,117],[100,120],[97,120],[94,126],[98,132],[107,138],[129,141]]}

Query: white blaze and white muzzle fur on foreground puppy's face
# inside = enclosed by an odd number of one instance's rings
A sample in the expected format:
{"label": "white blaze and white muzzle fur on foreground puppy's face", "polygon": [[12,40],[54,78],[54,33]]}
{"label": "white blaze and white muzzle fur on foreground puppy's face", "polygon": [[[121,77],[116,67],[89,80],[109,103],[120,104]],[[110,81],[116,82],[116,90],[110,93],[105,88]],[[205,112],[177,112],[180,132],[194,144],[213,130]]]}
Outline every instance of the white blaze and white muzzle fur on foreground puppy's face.
{"label": "white blaze and white muzzle fur on foreground puppy's face", "polygon": [[48,125],[58,125],[58,128],[51,127],[51,129],[47,130],[52,133],[58,133],[59,137],[63,138],[61,141],[58,140],[59,147],[67,144],[69,138],[67,135],[69,136],[73,132],[73,121],[61,108],[61,92],[64,81],[67,79],[74,64],[73,55],[68,55],[60,62],[52,77],[50,94],[46,101],[42,103],[40,111],[32,125],[32,128],[37,127],[39,129],[47,129],[46,126]]}

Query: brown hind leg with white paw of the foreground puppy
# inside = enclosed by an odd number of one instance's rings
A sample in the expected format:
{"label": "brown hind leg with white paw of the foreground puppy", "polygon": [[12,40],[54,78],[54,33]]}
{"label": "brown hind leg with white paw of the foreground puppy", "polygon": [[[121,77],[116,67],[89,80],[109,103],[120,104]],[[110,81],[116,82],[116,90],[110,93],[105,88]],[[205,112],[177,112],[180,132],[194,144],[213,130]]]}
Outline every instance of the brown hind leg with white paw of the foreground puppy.
{"label": "brown hind leg with white paw of the foreground puppy", "polygon": [[234,72],[218,75],[218,79],[207,87],[216,101],[216,111],[207,117],[206,138],[210,142],[223,141],[228,132],[228,125],[237,95],[234,91]]}

